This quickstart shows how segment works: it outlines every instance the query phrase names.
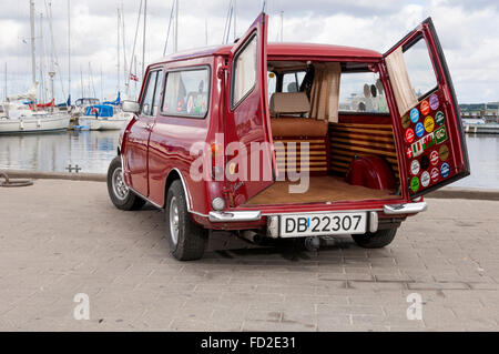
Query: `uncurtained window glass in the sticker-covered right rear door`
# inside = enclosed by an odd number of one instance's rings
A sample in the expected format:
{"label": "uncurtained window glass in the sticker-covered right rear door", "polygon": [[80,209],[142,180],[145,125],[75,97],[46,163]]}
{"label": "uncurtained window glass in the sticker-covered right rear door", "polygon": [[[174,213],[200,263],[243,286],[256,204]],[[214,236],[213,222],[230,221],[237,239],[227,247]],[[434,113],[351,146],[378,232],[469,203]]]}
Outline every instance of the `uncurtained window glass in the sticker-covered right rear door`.
{"label": "uncurtained window glass in the sticker-covered right rear door", "polygon": [[418,99],[426,97],[437,88],[437,77],[431,64],[428,47],[422,38],[406,49],[404,60],[410,84]]}

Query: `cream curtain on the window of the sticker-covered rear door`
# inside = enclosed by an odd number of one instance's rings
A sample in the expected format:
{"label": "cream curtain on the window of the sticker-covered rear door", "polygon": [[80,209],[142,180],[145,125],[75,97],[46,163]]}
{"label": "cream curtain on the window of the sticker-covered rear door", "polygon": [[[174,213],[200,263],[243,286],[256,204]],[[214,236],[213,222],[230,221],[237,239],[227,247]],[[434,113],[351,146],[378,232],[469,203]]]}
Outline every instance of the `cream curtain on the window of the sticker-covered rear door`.
{"label": "cream curtain on the window of the sticker-covered rear door", "polygon": [[395,100],[397,101],[398,112],[400,113],[400,117],[403,117],[411,108],[418,104],[418,99],[410,84],[401,47],[397,48],[391,54],[386,57],[385,61],[391,88],[394,89]]}

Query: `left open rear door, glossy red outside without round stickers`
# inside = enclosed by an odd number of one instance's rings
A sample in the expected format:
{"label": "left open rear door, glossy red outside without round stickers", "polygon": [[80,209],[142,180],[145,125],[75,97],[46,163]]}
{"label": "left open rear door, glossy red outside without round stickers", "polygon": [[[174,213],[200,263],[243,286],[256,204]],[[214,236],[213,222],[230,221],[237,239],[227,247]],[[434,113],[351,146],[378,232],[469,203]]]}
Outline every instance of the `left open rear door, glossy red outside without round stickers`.
{"label": "left open rear door, glossy red outside without round stickers", "polygon": [[266,80],[267,21],[262,12],[228,58],[224,140],[231,206],[246,202],[275,180]]}

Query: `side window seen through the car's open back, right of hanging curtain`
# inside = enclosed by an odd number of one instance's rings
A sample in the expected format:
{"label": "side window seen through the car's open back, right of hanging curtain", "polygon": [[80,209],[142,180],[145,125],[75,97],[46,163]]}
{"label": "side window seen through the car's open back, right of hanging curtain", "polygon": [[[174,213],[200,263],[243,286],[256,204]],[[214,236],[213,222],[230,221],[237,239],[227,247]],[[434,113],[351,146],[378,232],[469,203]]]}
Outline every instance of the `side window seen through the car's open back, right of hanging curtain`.
{"label": "side window seen through the car's open back, right of hanging curtain", "polygon": [[385,90],[375,72],[343,72],[339,80],[339,111],[388,113]]}

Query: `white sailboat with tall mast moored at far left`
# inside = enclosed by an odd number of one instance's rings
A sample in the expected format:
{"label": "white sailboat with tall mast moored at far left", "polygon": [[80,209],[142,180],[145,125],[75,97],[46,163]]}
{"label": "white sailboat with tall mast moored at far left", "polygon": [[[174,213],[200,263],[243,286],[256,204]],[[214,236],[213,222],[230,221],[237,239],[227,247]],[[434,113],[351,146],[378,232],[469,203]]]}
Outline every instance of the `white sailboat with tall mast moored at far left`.
{"label": "white sailboat with tall mast moored at far left", "polygon": [[[37,104],[38,82],[35,80],[34,57],[34,2],[32,0],[30,0],[30,20],[32,85],[26,93],[8,97],[6,102],[0,103],[0,133],[60,131],[67,130],[69,125],[69,114],[54,110],[53,103],[48,104],[48,107],[39,107]],[[20,100],[28,100],[28,104],[19,103],[18,101]],[[44,109],[50,109],[50,111]]]}

